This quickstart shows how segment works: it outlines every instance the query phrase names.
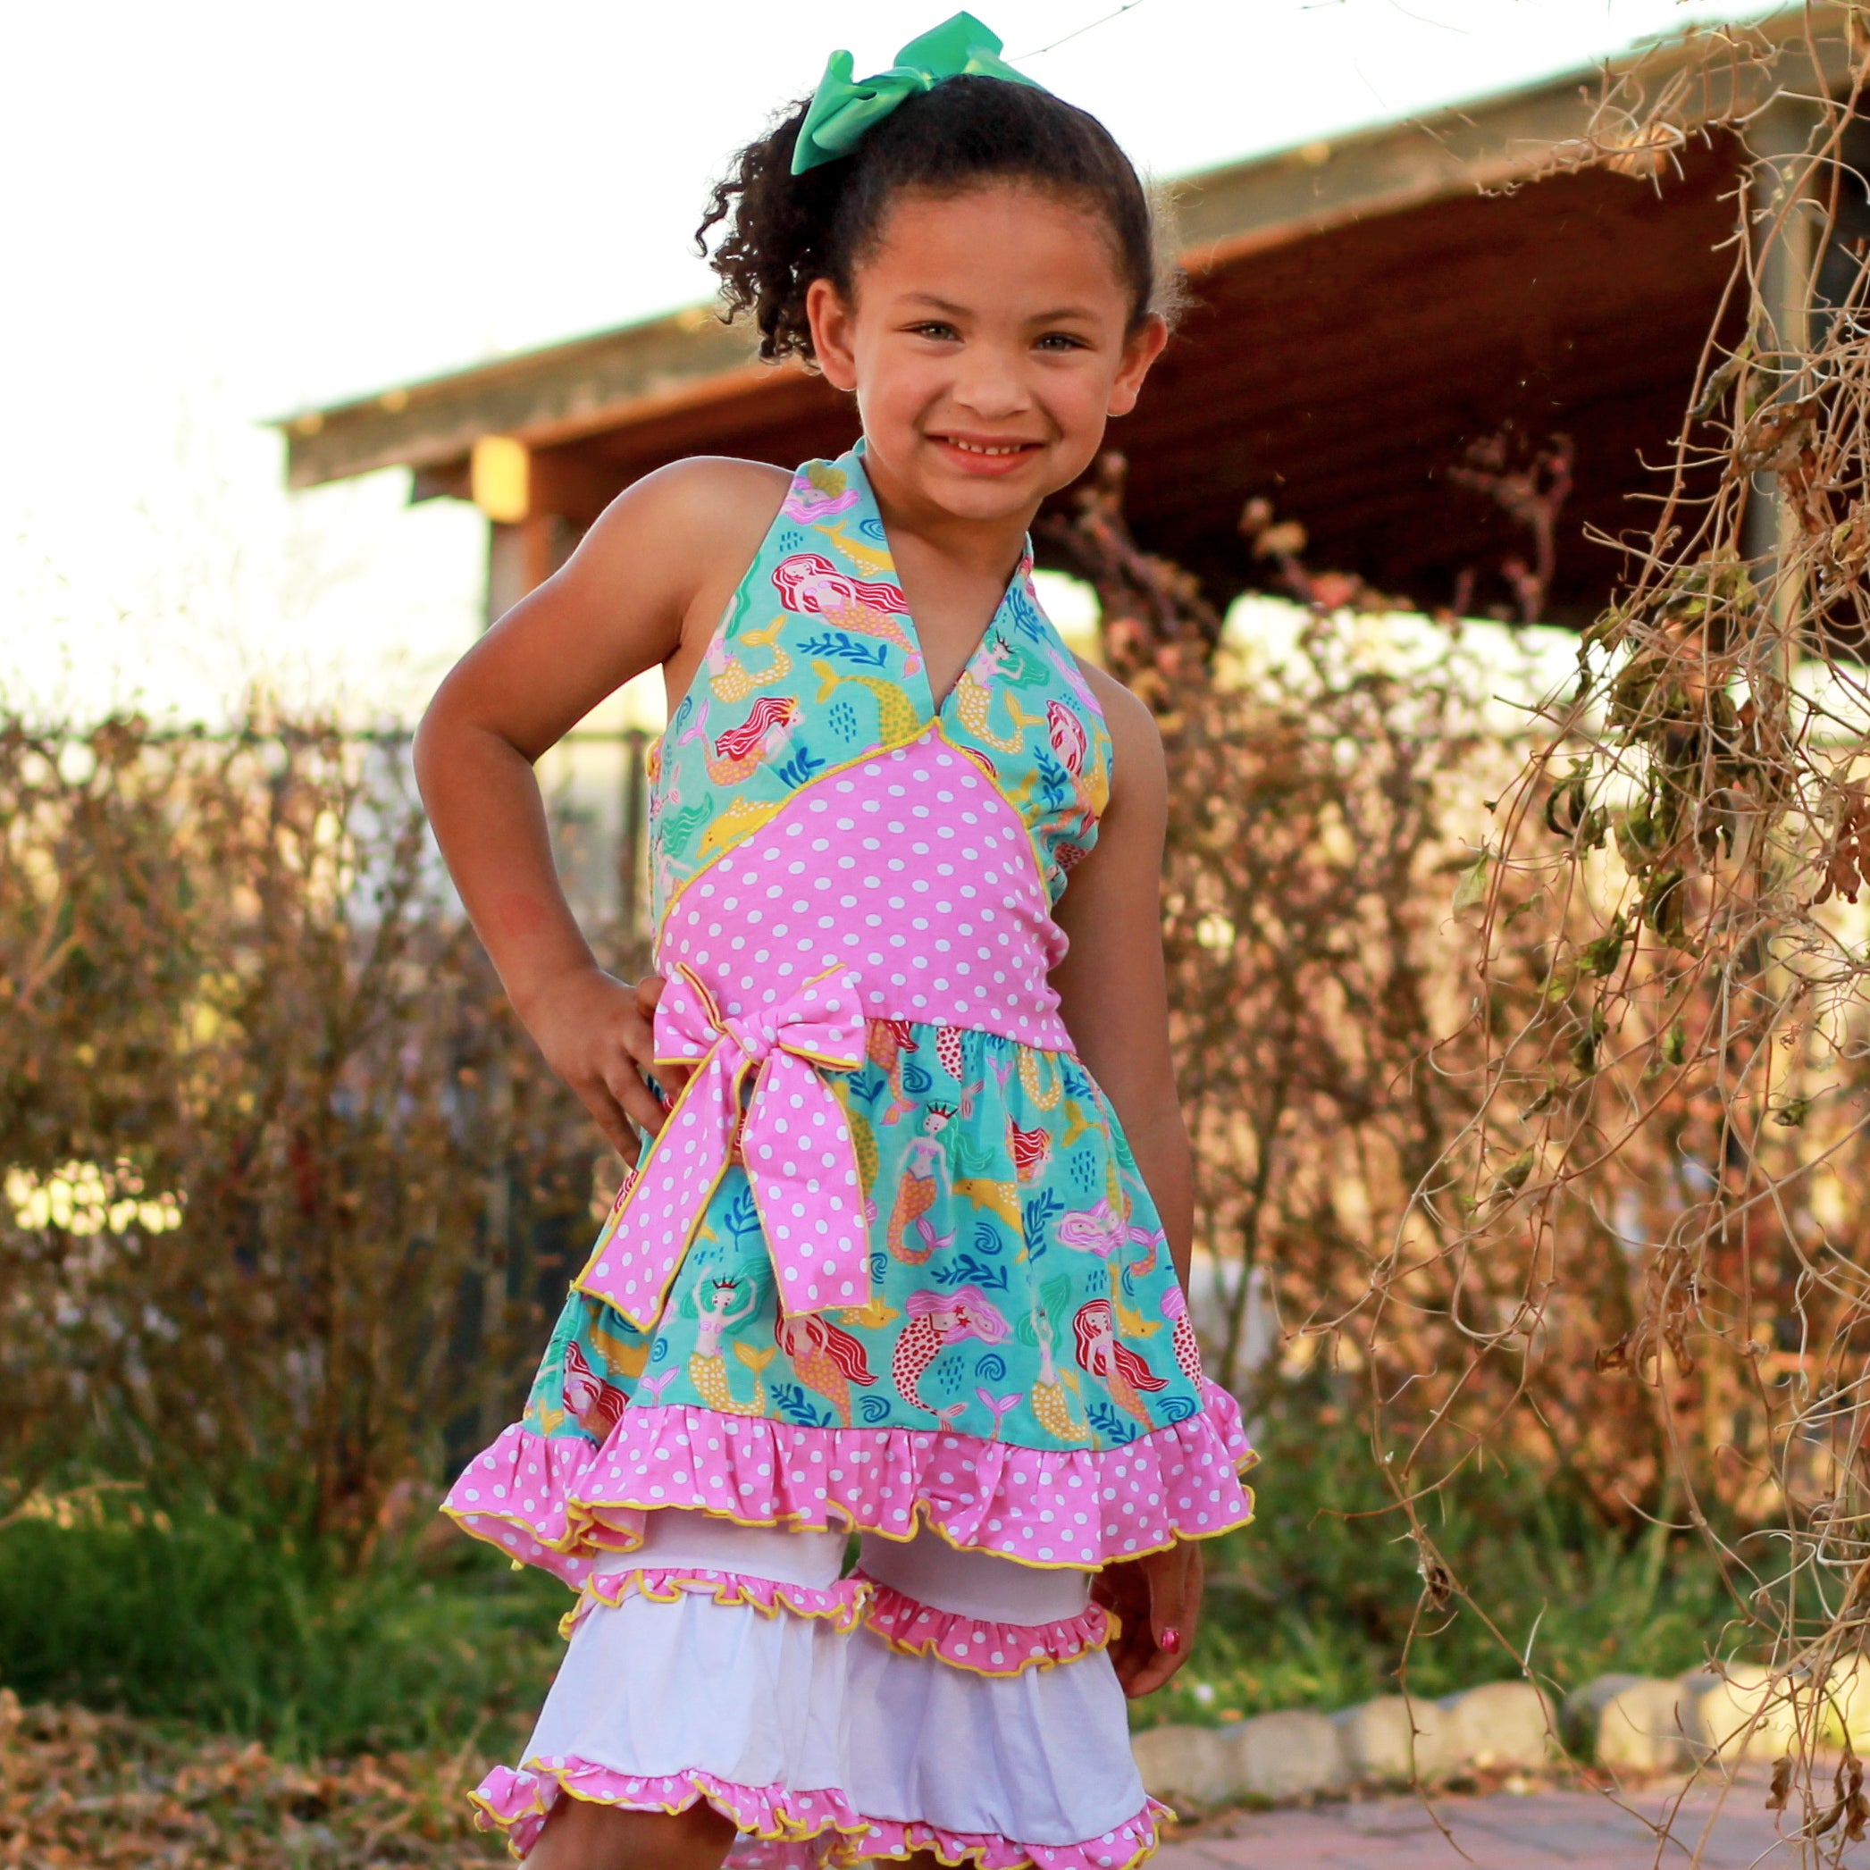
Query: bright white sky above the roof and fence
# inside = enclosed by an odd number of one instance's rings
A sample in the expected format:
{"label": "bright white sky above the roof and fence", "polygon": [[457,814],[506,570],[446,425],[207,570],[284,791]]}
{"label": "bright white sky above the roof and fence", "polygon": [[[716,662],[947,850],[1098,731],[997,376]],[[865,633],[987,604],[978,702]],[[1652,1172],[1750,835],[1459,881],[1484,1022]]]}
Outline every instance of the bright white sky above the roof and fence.
{"label": "bright white sky above the roof and fence", "polygon": [[[686,237],[726,155],[832,47],[873,71],[950,4],[9,9],[0,699],[213,718],[264,677],[413,716],[479,625],[479,516],[404,507],[400,471],[288,496],[260,423],[705,297]],[[1158,176],[1762,11],[1116,7],[976,0]]]}

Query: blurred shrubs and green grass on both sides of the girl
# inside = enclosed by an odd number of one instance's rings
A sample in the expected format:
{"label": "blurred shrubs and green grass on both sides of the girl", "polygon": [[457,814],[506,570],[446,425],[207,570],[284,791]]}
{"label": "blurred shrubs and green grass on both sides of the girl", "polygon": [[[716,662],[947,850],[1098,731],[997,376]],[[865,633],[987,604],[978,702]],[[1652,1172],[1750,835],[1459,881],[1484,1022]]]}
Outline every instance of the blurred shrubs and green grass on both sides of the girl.
{"label": "blurred shrubs and green grass on both sides of the girl", "polygon": [[[1690,1666],[1726,1584],[1651,1524],[1647,1393],[1588,1346],[1545,1359],[1560,1388],[1507,1436],[1498,1371],[1464,1416],[1419,1386],[1423,1434],[1468,1457],[1423,1513],[1485,1580],[1485,1616],[1419,1616],[1358,1307],[1472,1113],[1434,1038],[1474,995],[1460,832],[1515,752],[1459,628],[1305,617],[1290,654],[1201,658],[1156,698],[1199,1315],[1268,1487],[1212,1554],[1197,1657],[1139,1719],[1339,1707],[1393,1689],[1404,1651],[1419,1692],[1515,1674],[1528,1646],[1558,1685]],[[432,1507],[514,1412],[615,1165],[503,1006],[400,744],[264,711],[226,739],[15,722],[0,812],[0,1679],[286,1752],[511,1748],[559,1591]],[[1580,1343],[1629,1311],[1597,1216],[1653,1165],[1604,1172],[1567,1247],[1603,1294]],[[1270,1354],[1244,1330],[1253,1266],[1287,1328]],[[1460,1369],[1459,1318],[1412,1330]]]}

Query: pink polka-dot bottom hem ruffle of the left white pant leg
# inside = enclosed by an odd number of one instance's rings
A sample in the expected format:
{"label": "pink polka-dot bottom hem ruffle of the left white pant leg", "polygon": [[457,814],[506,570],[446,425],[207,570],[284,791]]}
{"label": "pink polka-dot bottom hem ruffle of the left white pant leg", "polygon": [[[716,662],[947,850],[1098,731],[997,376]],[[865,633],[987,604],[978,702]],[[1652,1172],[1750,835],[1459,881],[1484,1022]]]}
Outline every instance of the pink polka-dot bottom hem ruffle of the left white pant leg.
{"label": "pink polka-dot bottom hem ruffle of the left white pant leg", "polygon": [[827,1831],[860,1834],[870,1829],[836,1788],[789,1791],[784,1786],[735,1786],[712,1773],[640,1778],[574,1758],[535,1758],[518,1771],[497,1765],[468,1797],[475,1805],[475,1823],[482,1831],[505,1831],[512,1855],[524,1857],[539,1842],[546,1814],[561,1793],[632,1812],[686,1812],[698,1799],[707,1799],[733,1820],[737,1831],[784,1842]]}

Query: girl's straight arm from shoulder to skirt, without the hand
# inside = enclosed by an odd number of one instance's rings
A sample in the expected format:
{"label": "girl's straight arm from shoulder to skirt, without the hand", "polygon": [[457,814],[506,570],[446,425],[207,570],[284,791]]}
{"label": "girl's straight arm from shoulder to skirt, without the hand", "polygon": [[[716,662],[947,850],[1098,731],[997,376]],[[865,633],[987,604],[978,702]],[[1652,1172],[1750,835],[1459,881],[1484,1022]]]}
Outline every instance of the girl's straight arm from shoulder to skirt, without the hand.
{"label": "girl's straight arm from shoulder to skirt, without the hand", "polygon": [[1169,1058],[1161,870],[1169,772],[1150,711],[1115,677],[1085,666],[1111,729],[1111,800],[1090,856],[1072,871],[1055,916],[1070,937],[1053,971],[1079,1058],[1103,1086],[1187,1285],[1195,1182]]}

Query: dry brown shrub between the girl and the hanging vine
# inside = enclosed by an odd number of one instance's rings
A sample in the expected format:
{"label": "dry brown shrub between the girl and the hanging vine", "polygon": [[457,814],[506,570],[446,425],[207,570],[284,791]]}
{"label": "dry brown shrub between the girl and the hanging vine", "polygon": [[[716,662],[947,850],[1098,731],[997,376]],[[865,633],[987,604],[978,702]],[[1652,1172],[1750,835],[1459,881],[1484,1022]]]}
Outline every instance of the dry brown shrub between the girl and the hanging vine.
{"label": "dry brown shrub between the girl and the hanging vine", "polygon": [[[1550,531],[1548,512],[1537,520]],[[1616,1229],[1576,1202],[1532,1257],[1520,1242],[1468,1253],[1453,1290],[1425,1275],[1468,1210],[1502,1208],[1532,1167],[1496,1152],[1477,1195],[1446,1186],[1449,1150],[1485,1120],[1503,995],[1545,985],[1539,944],[1515,944],[1502,999],[1472,1017],[1496,881],[1479,836],[1528,722],[1479,701],[1498,649],[1472,653],[1457,619],[1423,621],[1427,643],[1408,653],[1408,626],[1373,621],[1399,606],[1311,570],[1296,522],[1253,503],[1242,529],[1303,606],[1283,660],[1216,647],[1193,582],[1129,540],[1118,460],[1051,535],[1098,585],[1113,662],[1169,750],[1165,939],[1201,1238],[1227,1300],[1219,1369],[1251,1376],[1240,1352],[1259,1268],[1288,1331],[1249,1402],[1305,1376],[1298,1406],[1313,1408],[1313,1376],[1339,1373],[1339,1399],[1361,1376],[1404,1474],[1446,1475],[1490,1449],[1631,1528],[1661,1498],[1662,1459],[1651,1410],[1627,1388],[1604,1393],[1593,1363],[1604,1322],[1631,1316]],[[1502,918],[1530,929],[1539,911],[1515,896]],[[1597,1201],[1627,1216],[1651,1167],[1612,1163]],[[1436,1223],[1425,1242],[1412,1216]],[[1432,1446],[1412,1449],[1421,1436]]]}

